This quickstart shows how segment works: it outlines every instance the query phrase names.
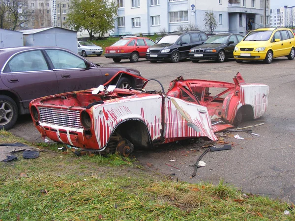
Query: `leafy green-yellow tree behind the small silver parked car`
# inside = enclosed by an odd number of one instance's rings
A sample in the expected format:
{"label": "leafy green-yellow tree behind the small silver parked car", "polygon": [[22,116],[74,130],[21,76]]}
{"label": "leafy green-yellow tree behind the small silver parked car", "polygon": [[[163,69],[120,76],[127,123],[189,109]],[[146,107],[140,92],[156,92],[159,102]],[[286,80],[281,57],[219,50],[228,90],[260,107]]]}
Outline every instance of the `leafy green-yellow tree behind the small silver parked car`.
{"label": "leafy green-yellow tree behind the small silver parked car", "polygon": [[72,0],[70,13],[67,15],[67,24],[76,31],[87,30],[89,38],[92,35],[103,36],[114,28],[117,16],[117,5],[108,0]]}

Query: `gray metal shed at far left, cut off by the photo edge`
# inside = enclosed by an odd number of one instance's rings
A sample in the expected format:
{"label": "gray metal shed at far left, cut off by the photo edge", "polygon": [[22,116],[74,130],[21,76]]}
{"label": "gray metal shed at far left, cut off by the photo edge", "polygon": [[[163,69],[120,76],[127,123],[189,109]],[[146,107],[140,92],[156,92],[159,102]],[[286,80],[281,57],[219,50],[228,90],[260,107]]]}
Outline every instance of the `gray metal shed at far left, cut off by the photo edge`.
{"label": "gray metal shed at far left, cut off by the photo edge", "polygon": [[0,28],[0,48],[24,46],[23,33]]}

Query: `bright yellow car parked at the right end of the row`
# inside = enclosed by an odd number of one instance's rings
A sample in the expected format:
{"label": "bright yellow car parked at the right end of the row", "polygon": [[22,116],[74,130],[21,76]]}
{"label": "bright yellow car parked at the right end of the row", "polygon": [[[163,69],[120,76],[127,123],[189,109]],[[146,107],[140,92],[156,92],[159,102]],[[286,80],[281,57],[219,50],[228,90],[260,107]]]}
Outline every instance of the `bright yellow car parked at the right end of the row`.
{"label": "bright yellow car parked at the right end of the row", "polygon": [[289,28],[258,28],[251,31],[234,51],[236,62],[263,60],[270,64],[275,57],[295,56],[295,36]]}

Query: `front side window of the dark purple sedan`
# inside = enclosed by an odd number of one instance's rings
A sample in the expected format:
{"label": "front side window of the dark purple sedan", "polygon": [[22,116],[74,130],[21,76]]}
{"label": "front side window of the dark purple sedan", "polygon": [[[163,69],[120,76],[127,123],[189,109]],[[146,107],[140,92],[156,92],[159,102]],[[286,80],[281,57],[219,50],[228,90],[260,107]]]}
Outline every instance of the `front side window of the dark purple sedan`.
{"label": "front side window of the dark purple sedan", "polygon": [[51,59],[55,69],[86,68],[85,61],[71,53],[53,49],[47,49],[45,52]]}

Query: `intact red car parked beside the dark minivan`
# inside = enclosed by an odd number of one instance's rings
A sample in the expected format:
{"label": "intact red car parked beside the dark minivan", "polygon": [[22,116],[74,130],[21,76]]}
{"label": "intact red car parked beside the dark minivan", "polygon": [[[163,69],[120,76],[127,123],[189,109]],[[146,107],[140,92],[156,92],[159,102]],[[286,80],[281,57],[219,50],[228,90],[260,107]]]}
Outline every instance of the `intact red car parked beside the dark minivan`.
{"label": "intact red car parked beside the dark minivan", "polygon": [[112,46],[106,47],[105,57],[113,58],[116,63],[121,59],[137,62],[139,58],[146,57],[148,48],[153,44],[155,44],[154,41],[144,37],[121,39]]}

